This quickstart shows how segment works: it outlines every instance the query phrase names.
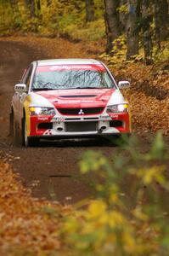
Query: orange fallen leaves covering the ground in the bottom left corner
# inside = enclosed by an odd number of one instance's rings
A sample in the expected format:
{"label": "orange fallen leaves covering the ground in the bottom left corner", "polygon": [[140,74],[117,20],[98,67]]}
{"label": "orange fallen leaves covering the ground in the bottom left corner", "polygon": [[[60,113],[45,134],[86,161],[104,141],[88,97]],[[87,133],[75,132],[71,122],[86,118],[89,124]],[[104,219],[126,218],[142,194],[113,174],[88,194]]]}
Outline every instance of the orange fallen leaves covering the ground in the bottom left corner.
{"label": "orange fallen leaves covering the ground in the bottom left corner", "polygon": [[59,227],[71,207],[31,198],[16,178],[8,164],[0,162],[0,254],[61,254]]}

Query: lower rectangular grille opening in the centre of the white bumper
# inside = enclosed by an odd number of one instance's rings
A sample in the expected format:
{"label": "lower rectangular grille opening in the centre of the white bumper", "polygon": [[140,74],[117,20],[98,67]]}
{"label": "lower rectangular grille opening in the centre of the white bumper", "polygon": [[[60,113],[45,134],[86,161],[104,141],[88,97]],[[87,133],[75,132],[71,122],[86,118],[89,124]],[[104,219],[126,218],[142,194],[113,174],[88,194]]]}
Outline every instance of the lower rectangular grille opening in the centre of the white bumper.
{"label": "lower rectangular grille opening in the centre of the white bumper", "polygon": [[65,123],[65,131],[96,131],[97,122],[69,122]]}

